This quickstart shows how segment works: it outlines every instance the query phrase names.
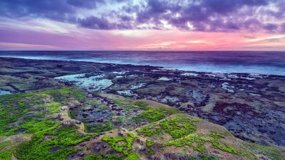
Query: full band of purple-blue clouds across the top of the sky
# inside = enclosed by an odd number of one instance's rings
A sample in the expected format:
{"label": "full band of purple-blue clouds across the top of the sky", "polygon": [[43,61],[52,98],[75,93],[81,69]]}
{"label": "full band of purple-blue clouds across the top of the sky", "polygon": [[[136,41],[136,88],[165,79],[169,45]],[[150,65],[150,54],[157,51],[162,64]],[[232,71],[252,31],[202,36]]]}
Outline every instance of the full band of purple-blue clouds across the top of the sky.
{"label": "full band of purple-blue clouds across the top of the sky", "polygon": [[[123,5],[115,8],[115,3]],[[101,6],[110,4],[105,13]],[[185,31],[285,30],[281,25],[285,2],[281,0],[145,0],[139,4],[131,0],[1,0],[0,6],[0,16],[51,18],[105,30],[165,29],[165,21]],[[100,14],[77,17],[77,11],[84,9],[98,9]]]}

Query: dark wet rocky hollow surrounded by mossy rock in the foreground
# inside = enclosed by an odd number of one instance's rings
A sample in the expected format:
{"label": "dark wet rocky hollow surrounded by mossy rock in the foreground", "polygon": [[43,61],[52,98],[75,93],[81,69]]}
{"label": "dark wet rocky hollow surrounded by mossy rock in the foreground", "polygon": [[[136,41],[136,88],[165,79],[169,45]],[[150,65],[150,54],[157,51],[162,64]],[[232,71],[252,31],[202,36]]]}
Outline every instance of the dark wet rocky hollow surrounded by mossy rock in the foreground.
{"label": "dark wet rocky hollow surrounded by mossy rock in the foreground", "polygon": [[[119,102],[120,105],[118,105],[100,95],[89,94],[89,92],[86,92],[86,95],[88,95],[88,101],[73,108],[70,113],[71,117],[86,125],[87,132],[103,132],[119,127],[133,129],[143,124],[143,122],[132,121],[135,116],[143,112],[133,104]],[[125,117],[124,122],[122,117]],[[126,133],[120,131],[119,134],[119,136],[125,136]]]}

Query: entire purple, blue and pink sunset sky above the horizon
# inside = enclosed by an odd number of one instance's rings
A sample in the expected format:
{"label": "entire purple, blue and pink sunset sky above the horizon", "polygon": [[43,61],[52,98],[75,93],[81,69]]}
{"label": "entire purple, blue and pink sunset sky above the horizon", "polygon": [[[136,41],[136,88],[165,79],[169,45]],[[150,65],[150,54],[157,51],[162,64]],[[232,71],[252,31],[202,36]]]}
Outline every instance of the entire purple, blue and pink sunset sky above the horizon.
{"label": "entire purple, blue and pink sunset sky above the horizon", "polygon": [[285,0],[0,0],[0,50],[285,50]]}

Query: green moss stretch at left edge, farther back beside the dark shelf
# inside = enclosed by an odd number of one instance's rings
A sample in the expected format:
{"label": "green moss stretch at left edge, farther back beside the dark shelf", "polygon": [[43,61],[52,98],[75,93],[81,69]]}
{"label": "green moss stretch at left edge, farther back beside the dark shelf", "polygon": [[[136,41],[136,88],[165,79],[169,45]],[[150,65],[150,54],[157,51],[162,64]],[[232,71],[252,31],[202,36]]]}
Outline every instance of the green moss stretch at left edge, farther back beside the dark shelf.
{"label": "green moss stretch at left edge, farther back beside the dark shelf", "polygon": [[[34,111],[30,105],[39,104],[41,98],[46,97],[48,94],[54,100],[64,103],[70,99],[84,100],[85,95],[81,90],[73,87],[53,88],[43,91],[28,92],[25,94],[15,95],[1,95],[0,97],[0,137],[7,135],[11,128],[9,124],[16,122],[20,117],[24,116],[27,112]],[[36,116],[42,114],[51,114],[59,112],[58,107],[60,103],[50,102],[46,104],[48,110],[43,113],[38,113]],[[39,105],[44,107],[45,105]],[[25,117],[24,117],[25,118]]]}

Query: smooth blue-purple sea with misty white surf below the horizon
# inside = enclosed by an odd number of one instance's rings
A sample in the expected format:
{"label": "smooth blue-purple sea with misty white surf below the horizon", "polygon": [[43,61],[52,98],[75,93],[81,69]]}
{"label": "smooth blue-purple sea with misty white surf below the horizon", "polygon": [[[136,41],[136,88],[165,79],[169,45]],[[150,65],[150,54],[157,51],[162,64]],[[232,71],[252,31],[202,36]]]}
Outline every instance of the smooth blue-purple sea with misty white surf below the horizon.
{"label": "smooth blue-purple sea with misty white surf below the horizon", "polygon": [[0,51],[0,57],[155,65],[214,73],[285,75],[285,52],[256,51]]}

